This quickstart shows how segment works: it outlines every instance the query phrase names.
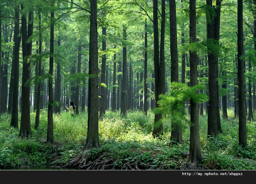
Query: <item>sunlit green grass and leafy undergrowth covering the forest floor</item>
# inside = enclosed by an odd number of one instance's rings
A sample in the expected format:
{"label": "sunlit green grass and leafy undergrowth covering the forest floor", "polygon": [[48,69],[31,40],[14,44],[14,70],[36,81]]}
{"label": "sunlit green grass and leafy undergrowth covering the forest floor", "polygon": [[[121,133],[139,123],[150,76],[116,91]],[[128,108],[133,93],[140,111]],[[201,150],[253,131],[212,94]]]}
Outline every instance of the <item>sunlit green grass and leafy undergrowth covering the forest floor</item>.
{"label": "sunlit green grass and leafy undergrowth covering the forest floor", "polygon": [[[256,170],[255,121],[247,121],[248,146],[241,148],[238,145],[238,118],[234,118],[232,112],[233,109],[228,110],[228,119],[221,118],[223,133],[218,139],[207,138],[207,115],[199,116],[201,169]],[[10,127],[11,115],[1,114],[0,169],[62,167],[83,148],[87,135],[86,112],[75,118],[65,111],[53,115],[55,144],[46,144],[47,111],[41,111],[36,130],[35,116],[31,113],[32,136],[21,139],[19,129]],[[150,110],[147,116],[140,111],[128,111],[125,117],[120,117],[120,111],[107,111],[99,121],[101,148],[89,152],[90,164],[84,169],[180,170],[189,161],[189,124],[183,123],[184,143],[178,144],[170,141],[171,123],[168,119],[163,124],[164,135],[154,139],[151,136],[153,121],[154,114]]]}

